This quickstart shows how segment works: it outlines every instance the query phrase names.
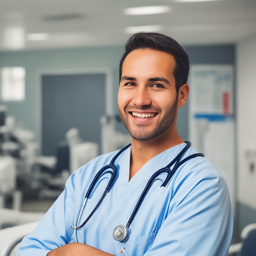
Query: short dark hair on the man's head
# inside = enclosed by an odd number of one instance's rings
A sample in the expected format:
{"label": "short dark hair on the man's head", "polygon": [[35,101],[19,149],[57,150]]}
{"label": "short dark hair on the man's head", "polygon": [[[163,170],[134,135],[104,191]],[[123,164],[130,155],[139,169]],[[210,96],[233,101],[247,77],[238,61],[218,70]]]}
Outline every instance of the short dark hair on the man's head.
{"label": "short dark hair on the man's head", "polygon": [[171,54],[175,59],[173,76],[175,88],[178,93],[180,86],[187,82],[189,76],[189,56],[184,49],[173,38],[153,32],[138,32],[128,39],[119,64],[119,82],[122,75],[122,67],[126,56],[136,49],[153,49]]}

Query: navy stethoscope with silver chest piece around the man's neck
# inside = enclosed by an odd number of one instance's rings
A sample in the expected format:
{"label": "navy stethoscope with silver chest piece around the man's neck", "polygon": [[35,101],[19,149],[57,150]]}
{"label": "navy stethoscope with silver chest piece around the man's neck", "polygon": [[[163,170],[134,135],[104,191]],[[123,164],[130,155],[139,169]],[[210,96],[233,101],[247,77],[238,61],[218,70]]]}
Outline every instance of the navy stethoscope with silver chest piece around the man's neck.
{"label": "navy stethoscope with silver chest piece around the man's neck", "polygon": [[[150,187],[152,186],[152,184],[155,182],[155,180],[158,180],[157,177],[162,174],[162,173],[166,173],[166,179],[164,180],[163,184],[160,186],[166,186],[169,182],[169,180],[171,179],[171,177],[173,177],[174,173],[177,171],[177,169],[184,164],[186,161],[194,158],[194,157],[204,157],[204,154],[202,153],[195,153],[192,155],[189,155],[188,157],[182,159],[182,156],[184,155],[184,153],[189,149],[189,147],[191,146],[191,142],[190,141],[185,141],[186,142],[186,146],[180,151],[180,153],[164,168],[159,169],[158,171],[156,171],[148,180],[148,183],[146,184],[143,192],[141,193],[141,196],[139,197],[139,200],[134,208],[134,210],[132,211],[132,214],[130,216],[130,219],[128,220],[126,225],[118,225],[117,227],[115,227],[112,235],[113,238],[119,242],[126,242],[126,240],[128,240],[129,235],[130,235],[130,231],[129,231],[129,227],[133,221],[133,219],[135,218],[139,207],[141,206],[144,198],[146,197]],[[117,159],[117,157],[119,157],[119,155],[126,150],[126,148],[128,148],[130,146],[130,144],[128,144],[127,146],[125,146],[124,148],[122,148],[121,150],[119,150],[117,152],[117,154],[112,158],[112,160],[110,161],[110,164],[104,166],[103,168],[100,169],[100,171],[95,175],[94,179],[92,180],[92,183],[90,184],[90,187],[85,195],[85,199],[83,201],[81,210],[79,212],[79,216],[77,218],[76,221],[76,227],[71,226],[72,229],[75,230],[75,240],[76,243],[78,243],[77,240],[77,234],[76,231],[80,230],[83,228],[83,226],[88,222],[88,220],[90,220],[90,218],[92,217],[92,215],[94,214],[94,212],[98,209],[98,207],[100,206],[101,202],[103,201],[103,199],[105,198],[106,194],[110,191],[110,189],[112,188],[114,182],[115,182],[115,178],[117,176],[117,167],[115,166],[115,160]],[[182,159],[182,160],[181,160]],[[171,166],[174,165],[173,169],[171,170]],[[86,201],[87,199],[90,197],[90,194],[95,186],[95,184],[97,183],[97,181],[99,180],[100,177],[102,177],[105,174],[110,173],[111,177],[110,180],[106,186],[105,191],[103,192],[99,202],[96,204],[96,206],[94,207],[94,209],[92,210],[92,212],[89,214],[89,216],[85,219],[85,221],[79,225],[80,222],[80,218],[81,215],[83,213],[83,209],[85,207]]]}

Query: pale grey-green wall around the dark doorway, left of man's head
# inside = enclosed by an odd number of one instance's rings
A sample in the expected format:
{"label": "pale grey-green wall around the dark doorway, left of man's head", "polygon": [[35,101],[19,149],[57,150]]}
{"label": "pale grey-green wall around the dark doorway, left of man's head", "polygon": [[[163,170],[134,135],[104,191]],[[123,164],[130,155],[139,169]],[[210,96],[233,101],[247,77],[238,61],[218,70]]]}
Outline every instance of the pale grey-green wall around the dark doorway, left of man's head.
{"label": "pale grey-green wall around the dark doorway, left of man's head", "polygon": [[40,74],[63,70],[68,73],[79,70],[108,70],[112,75],[113,87],[118,88],[118,65],[122,52],[123,47],[0,52],[0,68],[23,66],[26,70],[25,101],[0,101],[0,104],[6,105],[7,115],[13,115],[24,128],[33,130],[37,141],[40,141]]}

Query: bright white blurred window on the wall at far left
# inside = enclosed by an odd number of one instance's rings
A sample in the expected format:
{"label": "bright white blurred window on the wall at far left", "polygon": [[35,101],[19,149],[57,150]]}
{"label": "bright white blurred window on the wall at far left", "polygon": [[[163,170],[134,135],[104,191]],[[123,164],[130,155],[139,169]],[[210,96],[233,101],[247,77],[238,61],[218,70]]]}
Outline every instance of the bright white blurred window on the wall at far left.
{"label": "bright white blurred window on the wall at far left", "polygon": [[2,101],[25,100],[25,68],[3,67],[1,69]]}

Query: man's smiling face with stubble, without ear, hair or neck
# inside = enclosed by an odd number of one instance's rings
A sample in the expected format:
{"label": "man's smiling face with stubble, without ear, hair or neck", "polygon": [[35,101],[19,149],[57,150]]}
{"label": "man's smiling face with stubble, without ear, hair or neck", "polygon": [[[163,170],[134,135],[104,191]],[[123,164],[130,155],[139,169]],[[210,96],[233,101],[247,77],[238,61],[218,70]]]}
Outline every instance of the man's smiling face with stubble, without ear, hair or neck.
{"label": "man's smiling face with stubble, without ear, hair or neck", "polygon": [[125,58],[118,108],[135,140],[149,140],[176,130],[178,98],[171,54],[136,49]]}

